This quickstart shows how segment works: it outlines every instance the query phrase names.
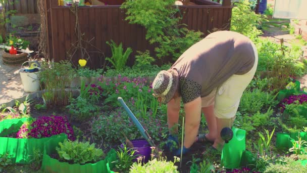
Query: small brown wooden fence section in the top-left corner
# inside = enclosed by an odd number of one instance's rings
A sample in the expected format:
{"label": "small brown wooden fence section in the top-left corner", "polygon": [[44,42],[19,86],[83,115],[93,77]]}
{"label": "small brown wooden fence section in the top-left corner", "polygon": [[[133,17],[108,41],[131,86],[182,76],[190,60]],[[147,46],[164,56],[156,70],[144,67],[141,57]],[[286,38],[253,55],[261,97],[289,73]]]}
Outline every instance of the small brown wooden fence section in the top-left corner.
{"label": "small brown wooden fence section in the top-left corner", "polygon": [[16,10],[19,14],[36,14],[37,0],[10,0],[9,10]]}

